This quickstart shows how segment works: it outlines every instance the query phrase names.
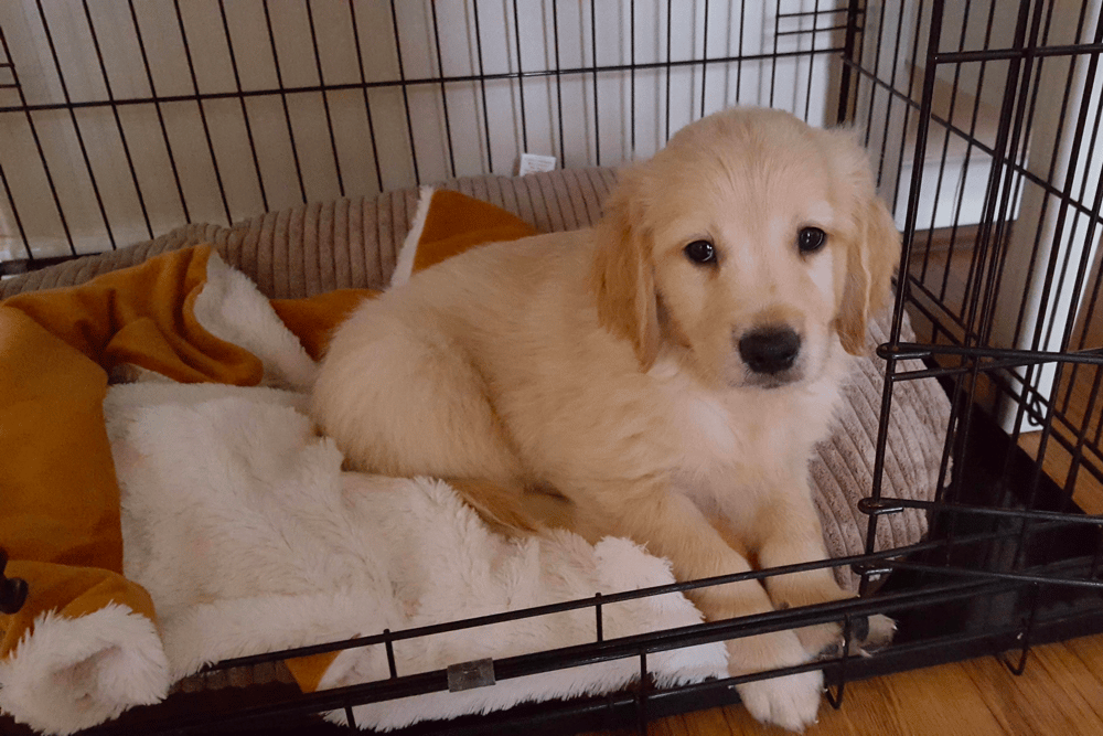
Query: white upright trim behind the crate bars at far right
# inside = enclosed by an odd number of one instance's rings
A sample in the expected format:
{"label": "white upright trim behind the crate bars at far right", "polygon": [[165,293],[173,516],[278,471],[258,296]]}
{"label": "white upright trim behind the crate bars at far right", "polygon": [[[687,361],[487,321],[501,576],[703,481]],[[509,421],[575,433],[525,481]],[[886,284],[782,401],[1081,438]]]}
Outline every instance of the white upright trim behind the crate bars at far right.
{"label": "white upright trim behind the crate bars at far right", "polygon": [[[1101,4],[1054,2],[1040,45],[1097,44]],[[1022,142],[1010,151],[1006,179],[999,183],[1019,190],[1021,203],[1017,216],[1009,218],[1006,237],[994,248],[995,346],[1043,352],[1093,346],[1092,333],[1083,327],[1097,321],[1090,312],[1103,194],[1101,71],[1097,56],[1086,53],[1041,57],[1017,90],[1028,95],[1019,116]],[[1013,130],[1016,122],[1013,119]],[[1000,406],[1004,428],[1011,433],[1041,427],[1060,404],[1061,374],[1068,377],[1071,366],[1048,362],[1009,371],[1010,392]]]}

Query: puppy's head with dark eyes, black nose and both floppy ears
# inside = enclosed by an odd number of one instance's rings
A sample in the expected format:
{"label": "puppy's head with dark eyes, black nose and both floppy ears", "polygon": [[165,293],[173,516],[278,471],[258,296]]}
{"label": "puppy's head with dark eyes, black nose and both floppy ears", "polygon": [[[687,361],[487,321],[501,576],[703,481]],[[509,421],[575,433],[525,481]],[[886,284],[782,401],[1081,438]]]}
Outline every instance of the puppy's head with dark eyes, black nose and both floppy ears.
{"label": "puppy's head with dark eyes, black nose and both floppy ears", "polygon": [[777,387],[861,352],[899,252],[849,132],[732,109],[621,174],[593,290],[644,369],[670,348],[709,384]]}

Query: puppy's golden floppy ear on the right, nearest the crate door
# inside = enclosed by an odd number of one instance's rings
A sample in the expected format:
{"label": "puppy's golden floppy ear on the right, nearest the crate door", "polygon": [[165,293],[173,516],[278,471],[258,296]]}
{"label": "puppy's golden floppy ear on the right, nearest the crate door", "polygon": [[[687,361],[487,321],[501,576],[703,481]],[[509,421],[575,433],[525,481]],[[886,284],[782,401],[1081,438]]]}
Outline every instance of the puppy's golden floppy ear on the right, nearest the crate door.
{"label": "puppy's golden floppy ear on the right, nearest the crate door", "polygon": [[843,349],[865,353],[866,323],[892,296],[892,275],[900,263],[900,233],[877,196],[865,151],[850,131],[825,131],[850,186],[853,236],[846,243],[846,278],[835,329]]}

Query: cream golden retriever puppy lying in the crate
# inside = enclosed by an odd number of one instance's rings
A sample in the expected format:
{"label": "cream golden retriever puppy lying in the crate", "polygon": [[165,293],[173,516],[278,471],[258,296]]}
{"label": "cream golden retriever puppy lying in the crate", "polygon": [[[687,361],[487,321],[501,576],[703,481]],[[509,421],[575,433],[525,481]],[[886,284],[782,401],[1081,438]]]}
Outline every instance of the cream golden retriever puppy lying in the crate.
{"label": "cream golden retriever puppy lying in the crate", "polygon": [[[822,559],[808,458],[899,246],[848,132],[722,111],[625,170],[596,227],[475,248],[365,302],[314,416],[358,469],[449,479],[506,525],[631,537],[681,580]],[[828,570],[689,595],[710,620],[847,596]],[[736,639],[730,672],[838,638]],[[822,674],[738,690],[799,730]]]}

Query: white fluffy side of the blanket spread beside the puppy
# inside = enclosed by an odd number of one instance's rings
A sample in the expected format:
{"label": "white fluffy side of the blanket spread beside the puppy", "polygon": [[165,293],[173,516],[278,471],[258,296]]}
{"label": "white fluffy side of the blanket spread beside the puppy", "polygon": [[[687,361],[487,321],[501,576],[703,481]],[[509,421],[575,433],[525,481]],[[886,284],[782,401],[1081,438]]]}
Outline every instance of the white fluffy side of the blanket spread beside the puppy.
{"label": "white fluffy side of the blanket spread beside the puppy", "polygon": [[[224,266],[211,271],[227,281],[206,287],[208,329],[258,353],[274,383],[309,380],[303,356],[287,354],[282,324],[246,292],[244,277]],[[108,394],[125,573],[153,598],[172,681],[229,657],[673,582],[664,561],[624,540],[591,546],[559,533],[511,541],[441,482],[342,472],[340,452],[314,435],[304,404],[301,392],[163,382]],[[700,621],[679,594],[604,612],[608,639]],[[580,609],[397,642],[394,650],[398,673],[413,674],[593,640],[593,612]],[[664,683],[699,681],[725,672],[726,653],[710,644],[656,654],[649,664]],[[607,692],[636,674],[634,660],[610,662],[364,705],[355,716],[365,727],[394,728]],[[387,676],[382,646],[353,649],[321,686]]]}

